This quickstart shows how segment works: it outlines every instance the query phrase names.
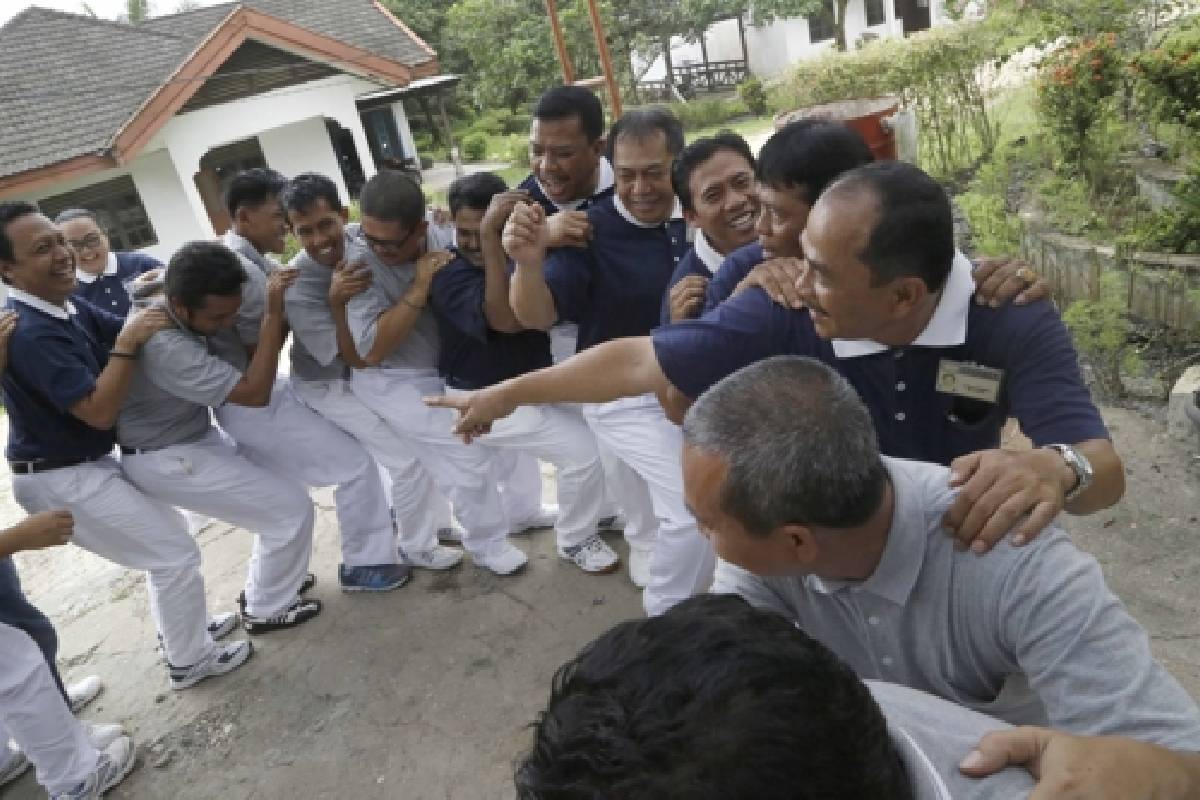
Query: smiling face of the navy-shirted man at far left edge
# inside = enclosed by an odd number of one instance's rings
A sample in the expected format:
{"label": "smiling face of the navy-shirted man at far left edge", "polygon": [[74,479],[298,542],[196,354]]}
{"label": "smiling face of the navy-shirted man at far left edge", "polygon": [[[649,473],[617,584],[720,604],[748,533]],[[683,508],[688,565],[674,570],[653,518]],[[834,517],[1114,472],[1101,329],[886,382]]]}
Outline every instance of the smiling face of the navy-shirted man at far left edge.
{"label": "smiling face of the navy-shirted man at far left edge", "polygon": [[66,236],[41,213],[17,217],[5,227],[12,260],[0,261],[10,285],[61,306],[76,288],[76,253]]}

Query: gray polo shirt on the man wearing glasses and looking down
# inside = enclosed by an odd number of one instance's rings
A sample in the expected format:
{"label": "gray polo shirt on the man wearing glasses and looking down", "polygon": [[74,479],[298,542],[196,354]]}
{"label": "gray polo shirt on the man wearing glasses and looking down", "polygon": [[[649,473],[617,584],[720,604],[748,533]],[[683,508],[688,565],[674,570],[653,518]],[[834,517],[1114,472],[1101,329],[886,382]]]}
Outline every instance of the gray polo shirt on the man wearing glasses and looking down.
{"label": "gray polo shirt on the man wearing glasses and looking down", "polygon": [[[449,242],[432,233],[426,241],[428,249],[444,249]],[[354,344],[361,355],[366,355],[374,345],[376,325],[379,317],[391,309],[404,296],[413,284],[416,273],[414,264],[386,266],[379,258],[365,251],[367,266],[371,269],[371,288],[353,297],[347,305],[347,318]],[[436,372],[438,368],[438,324],[428,306],[416,319],[408,338],[379,362],[380,369],[406,369]]]}

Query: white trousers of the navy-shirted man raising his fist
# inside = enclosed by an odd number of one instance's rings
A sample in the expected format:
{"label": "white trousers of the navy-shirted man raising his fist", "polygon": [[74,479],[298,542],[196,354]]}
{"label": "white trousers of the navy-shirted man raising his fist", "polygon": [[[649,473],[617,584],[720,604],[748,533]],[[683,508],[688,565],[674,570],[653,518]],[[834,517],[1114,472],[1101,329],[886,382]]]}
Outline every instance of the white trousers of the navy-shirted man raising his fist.
{"label": "white trousers of the navy-shirted man raising his fist", "polygon": [[588,405],[583,416],[601,446],[637,473],[659,521],[650,583],[642,593],[646,613],[661,614],[707,591],[716,560],[683,495],[683,434],[653,395]]}

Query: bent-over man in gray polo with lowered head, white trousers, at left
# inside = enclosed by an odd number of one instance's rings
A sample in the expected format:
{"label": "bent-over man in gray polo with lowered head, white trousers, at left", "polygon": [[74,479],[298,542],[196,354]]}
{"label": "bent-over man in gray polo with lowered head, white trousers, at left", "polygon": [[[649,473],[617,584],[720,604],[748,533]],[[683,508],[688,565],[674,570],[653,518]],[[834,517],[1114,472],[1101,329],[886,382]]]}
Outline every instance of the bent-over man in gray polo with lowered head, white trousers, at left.
{"label": "bent-over man in gray polo with lowered head, white trousers, at left", "polygon": [[215,242],[184,245],[166,277],[174,327],[145,344],[116,421],[121,468],[152,498],[254,533],[242,625],[263,633],[299,625],[320,602],[299,596],[312,555],[313,507],[300,483],[254,464],[212,427],[210,408],[265,405],[283,347],[283,290],[268,281],[259,347],[245,372],[211,355],[210,337],[241,303],[246,270]]}

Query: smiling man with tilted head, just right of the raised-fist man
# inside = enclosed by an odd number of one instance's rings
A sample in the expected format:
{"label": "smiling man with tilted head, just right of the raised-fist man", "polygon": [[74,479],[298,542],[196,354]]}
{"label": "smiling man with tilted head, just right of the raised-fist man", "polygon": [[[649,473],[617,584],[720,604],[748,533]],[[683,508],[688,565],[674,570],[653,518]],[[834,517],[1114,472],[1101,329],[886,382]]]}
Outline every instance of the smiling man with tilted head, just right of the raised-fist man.
{"label": "smiling man with tilted head, just right of the raised-fist man", "polygon": [[754,154],[732,131],[692,142],[671,168],[671,185],[694,231],[662,296],[662,324],[700,317],[704,293],[727,253],[755,241],[758,193]]}

